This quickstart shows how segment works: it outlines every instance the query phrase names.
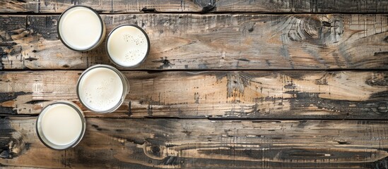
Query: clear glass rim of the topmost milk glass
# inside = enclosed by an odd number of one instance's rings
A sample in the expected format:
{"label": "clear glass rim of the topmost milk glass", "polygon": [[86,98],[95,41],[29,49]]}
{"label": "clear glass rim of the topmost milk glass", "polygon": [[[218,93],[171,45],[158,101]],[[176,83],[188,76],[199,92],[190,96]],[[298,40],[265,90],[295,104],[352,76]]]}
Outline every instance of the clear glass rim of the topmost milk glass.
{"label": "clear glass rim of the topmost milk glass", "polygon": [[[62,39],[61,37],[61,32],[59,32],[59,25],[61,23],[61,18],[62,16],[64,15],[64,13],[66,13],[67,11],[69,11],[71,8],[76,8],[76,7],[83,7],[83,8],[88,8],[90,11],[93,11],[98,19],[100,20],[100,24],[101,24],[101,34],[100,34],[100,37],[98,38],[98,41],[95,42],[95,44],[93,44],[92,46],[90,46],[88,49],[83,49],[83,50],[78,50],[78,49],[74,49],[72,48],[71,46],[69,46],[68,44],[66,44],[66,42],[64,42],[64,39]],[[59,40],[61,40],[62,44],[64,44],[67,48],[73,50],[73,51],[89,51],[91,49],[94,49],[95,47],[98,46],[98,44],[100,44],[102,42],[102,39],[104,39],[104,35],[105,35],[105,23],[104,21],[102,20],[100,14],[95,11],[93,8],[91,8],[90,6],[85,6],[85,5],[75,5],[75,6],[71,6],[69,8],[67,8],[64,12],[61,13],[61,15],[59,15],[59,19],[58,19],[58,23],[57,23],[57,33],[58,33],[58,37],[59,37]]]}

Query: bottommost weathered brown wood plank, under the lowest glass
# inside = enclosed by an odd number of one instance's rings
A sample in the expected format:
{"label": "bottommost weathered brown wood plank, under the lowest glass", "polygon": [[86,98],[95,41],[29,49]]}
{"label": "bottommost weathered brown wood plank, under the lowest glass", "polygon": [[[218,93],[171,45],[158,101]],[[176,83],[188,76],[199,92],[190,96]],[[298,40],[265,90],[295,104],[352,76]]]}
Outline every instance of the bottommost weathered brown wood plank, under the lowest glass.
{"label": "bottommost weathered brown wood plank, under the lowest glass", "polygon": [[387,121],[88,118],[48,149],[35,118],[0,119],[0,164],[46,168],[385,168]]}

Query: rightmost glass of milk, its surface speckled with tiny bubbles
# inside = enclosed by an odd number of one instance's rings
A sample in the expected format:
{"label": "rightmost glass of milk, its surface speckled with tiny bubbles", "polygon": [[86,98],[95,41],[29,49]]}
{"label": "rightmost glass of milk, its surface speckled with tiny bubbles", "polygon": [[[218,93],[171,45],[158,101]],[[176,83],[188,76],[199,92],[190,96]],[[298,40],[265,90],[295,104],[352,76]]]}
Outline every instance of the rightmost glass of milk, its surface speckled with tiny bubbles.
{"label": "rightmost glass of milk, its surface speckled with tiny bubbles", "polygon": [[148,56],[150,40],[138,25],[119,25],[107,36],[107,55],[115,65],[134,68]]}

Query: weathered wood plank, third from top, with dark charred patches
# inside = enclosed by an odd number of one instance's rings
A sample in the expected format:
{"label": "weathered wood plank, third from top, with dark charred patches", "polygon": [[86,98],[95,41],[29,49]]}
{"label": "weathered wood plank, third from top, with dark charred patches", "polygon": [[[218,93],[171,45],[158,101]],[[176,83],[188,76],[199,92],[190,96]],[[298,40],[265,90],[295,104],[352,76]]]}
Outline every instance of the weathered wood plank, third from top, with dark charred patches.
{"label": "weathered wood plank, third from top, with dark charred patches", "polygon": [[[130,92],[105,118],[388,119],[388,72],[124,71]],[[0,114],[37,114],[65,99],[79,105],[81,71],[0,73]],[[85,110],[85,108],[83,108]]]}

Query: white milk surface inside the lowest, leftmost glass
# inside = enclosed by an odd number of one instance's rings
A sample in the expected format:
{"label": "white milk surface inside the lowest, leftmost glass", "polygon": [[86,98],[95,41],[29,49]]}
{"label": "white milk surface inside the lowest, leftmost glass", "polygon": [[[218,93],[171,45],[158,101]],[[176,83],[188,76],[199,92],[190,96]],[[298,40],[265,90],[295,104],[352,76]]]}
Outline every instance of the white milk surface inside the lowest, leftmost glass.
{"label": "white milk surface inside the lowest, leftmost glass", "polygon": [[53,104],[45,109],[40,120],[42,134],[52,144],[68,145],[81,136],[82,120],[74,108],[66,104]]}

